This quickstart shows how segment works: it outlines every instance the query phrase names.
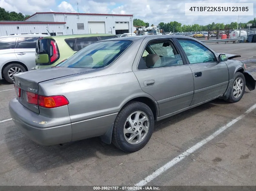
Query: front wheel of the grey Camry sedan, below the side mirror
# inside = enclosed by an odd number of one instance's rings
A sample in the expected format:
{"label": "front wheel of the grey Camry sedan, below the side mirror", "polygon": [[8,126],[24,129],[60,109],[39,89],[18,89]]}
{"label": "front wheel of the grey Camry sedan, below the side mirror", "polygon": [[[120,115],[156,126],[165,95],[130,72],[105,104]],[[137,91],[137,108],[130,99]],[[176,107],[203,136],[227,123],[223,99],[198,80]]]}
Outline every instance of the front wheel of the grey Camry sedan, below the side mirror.
{"label": "front wheel of the grey Camry sedan, below the side mirror", "polygon": [[230,88],[231,89],[227,101],[235,103],[241,100],[245,91],[245,78],[241,72],[235,73],[233,84]]}

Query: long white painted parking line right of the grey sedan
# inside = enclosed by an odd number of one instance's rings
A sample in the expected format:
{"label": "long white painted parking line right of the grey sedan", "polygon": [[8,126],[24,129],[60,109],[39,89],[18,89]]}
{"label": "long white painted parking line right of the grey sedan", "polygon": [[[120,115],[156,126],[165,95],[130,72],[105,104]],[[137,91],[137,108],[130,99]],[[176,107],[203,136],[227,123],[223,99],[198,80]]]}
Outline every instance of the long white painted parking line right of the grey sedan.
{"label": "long white painted parking line right of the grey sedan", "polygon": [[253,111],[256,108],[256,104],[254,104],[252,107],[250,107],[245,113],[243,113],[242,115],[238,116],[237,118],[233,119],[231,122],[227,123],[225,126],[222,126],[221,128],[219,128],[216,132],[214,132],[212,135],[208,136],[207,138],[205,138],[204,140],[198,142],[197,144],[195,144],[194,146],[192,146],[191,148],[189,148],[187,151],[181,153],[180,155],[178,155],[177,157],[175,157],[174,159],[172,159],[171,161],[169,161],[168,163],[166,163],[164,166],[158,168],[157,170],[154,171],[154,173],[150,174],[149,176],[147,176],[144,180],[141,180],[140,182],[138,182],[137,184],[135,184],[135,186],[145,186],[147,183],[151,182],[151,180],[155,179],[156,177],[158,177],[159,175],[161,175],[162,173],[164,173],[166,170],[168,170],[169,168],[173,167],[175,164],[177,164],[178,162],[182,161],[185,157],[189,156],[191,153],[193,153],[194,151],[198,150],[199,148],[201,148],[204,144],[208,143],[209,141],[211,141],[213,138],[217,137],[219,134],[221,134],[224,130],[228,129],[230,126],[232,126],[234,123],[238,122],[239,120],[243,119],[244,116],[246,116],[248,113],[250,113],[251,111]]}

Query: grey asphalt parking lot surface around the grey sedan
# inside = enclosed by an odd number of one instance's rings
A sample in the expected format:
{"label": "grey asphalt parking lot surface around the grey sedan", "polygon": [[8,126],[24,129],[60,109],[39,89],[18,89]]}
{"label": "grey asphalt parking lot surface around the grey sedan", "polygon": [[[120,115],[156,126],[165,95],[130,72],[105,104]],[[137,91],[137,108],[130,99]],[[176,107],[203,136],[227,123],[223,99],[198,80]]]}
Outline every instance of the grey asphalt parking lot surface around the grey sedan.
{"label": "grey asphalt parking lot surface around the grey sedan", "polygon": [[[255,43],[209,46],[241,55],[255,78]],[[1,185],[256,185],[255,90],[246,88],[238,103],[213,100],[156,123],[148,144],[130,154],[99,138],[39,146],[8,120],[13,97],[13,85],[0,81]]]}

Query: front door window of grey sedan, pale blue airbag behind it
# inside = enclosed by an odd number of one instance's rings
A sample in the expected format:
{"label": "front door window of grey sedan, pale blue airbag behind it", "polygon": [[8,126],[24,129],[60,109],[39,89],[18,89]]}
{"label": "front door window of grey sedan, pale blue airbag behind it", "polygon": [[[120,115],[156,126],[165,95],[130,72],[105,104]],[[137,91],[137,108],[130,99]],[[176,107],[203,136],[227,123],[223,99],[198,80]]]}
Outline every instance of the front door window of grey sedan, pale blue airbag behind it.
{"label": "front door window of grey sedan, pale blue airbag behind it", "polygon": [[194,40],[177,40],[187,55],[190,64],[216,62],[214,54],[202,44]]}

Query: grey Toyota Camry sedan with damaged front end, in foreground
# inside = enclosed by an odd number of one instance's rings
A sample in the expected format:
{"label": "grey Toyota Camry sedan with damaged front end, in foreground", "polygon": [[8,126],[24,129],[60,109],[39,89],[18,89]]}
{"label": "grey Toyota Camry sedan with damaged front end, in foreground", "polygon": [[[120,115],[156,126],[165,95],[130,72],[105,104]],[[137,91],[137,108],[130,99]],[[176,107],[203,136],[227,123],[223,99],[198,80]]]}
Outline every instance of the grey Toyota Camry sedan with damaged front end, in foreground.
{"label": "grey Toyota Camry sedan with damaged front end, in foreground", "polygon": [[14,75],[9,111],[40,145],[100,136],[138,151],[155,121],[216,98],[237,102],[245,86],[254,90],[256,81],[235,57],[177,35],[99,41],[56,67]]}

